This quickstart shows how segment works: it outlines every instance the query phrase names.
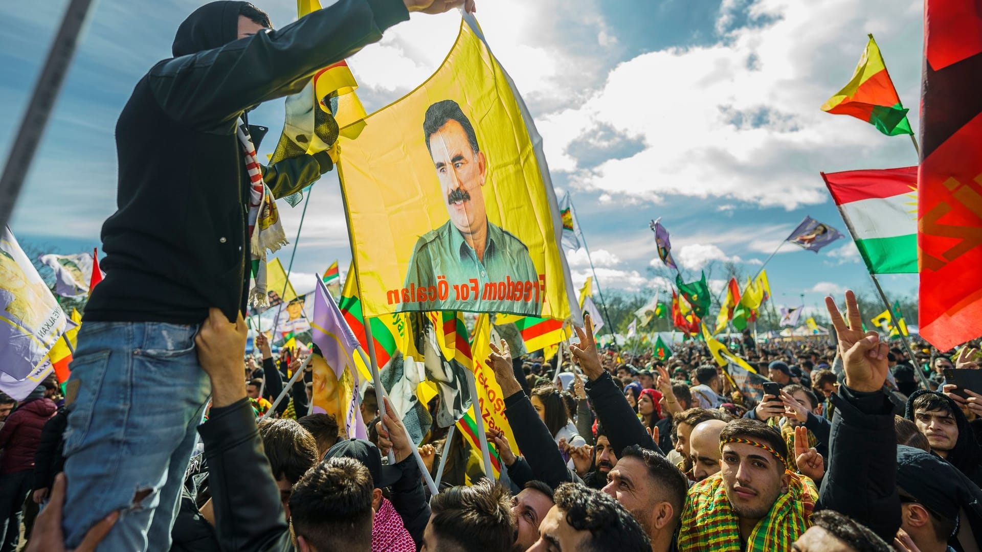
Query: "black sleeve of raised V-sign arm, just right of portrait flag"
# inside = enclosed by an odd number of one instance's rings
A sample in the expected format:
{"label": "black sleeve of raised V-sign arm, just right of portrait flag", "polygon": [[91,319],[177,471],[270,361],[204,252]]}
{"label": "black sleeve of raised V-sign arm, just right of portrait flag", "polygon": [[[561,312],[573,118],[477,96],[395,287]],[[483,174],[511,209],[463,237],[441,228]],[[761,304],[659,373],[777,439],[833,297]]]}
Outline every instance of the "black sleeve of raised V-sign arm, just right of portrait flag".
{"label": "black sleeve of raised V-sign arm, just right of portrait flag", "polygon": [[[607,440],[611,442],[611,448],[618,458],[621,458],[625,447],[630,445],[638,445],[642,449],[665,456],[651,435],[648,435],[641,420],[637,419],[637,414],[631,410],[609,372],[604,371],[597,379],[587,381],[586,395],[590,398],[590,404],[597,413],[597,421],[604,426]],[[512,427],[515,428],[514,425]]]}

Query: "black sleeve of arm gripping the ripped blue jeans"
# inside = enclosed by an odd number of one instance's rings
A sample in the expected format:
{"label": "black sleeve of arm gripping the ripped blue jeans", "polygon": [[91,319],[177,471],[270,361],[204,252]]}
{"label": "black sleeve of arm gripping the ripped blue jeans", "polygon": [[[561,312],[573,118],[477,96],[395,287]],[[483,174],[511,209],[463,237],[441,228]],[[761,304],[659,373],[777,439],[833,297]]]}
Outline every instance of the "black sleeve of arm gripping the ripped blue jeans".
{"label": "black sleeve of arm gripping the ripped blue jeans", "polygon": [[[211,409],[197,427],[223,550],[292,550],[290,528],[248,399]],[[247,484],[246,484],[247,481]]]}

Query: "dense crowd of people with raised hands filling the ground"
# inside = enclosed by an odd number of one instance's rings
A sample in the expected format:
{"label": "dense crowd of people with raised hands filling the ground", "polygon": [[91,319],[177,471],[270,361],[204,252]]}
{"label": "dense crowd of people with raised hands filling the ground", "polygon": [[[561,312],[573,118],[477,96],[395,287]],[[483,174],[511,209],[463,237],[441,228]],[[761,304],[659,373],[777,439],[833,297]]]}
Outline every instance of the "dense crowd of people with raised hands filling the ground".
{"label": "dense crowd of people with raised hands filling the ground", "polygon": [[[933,375],[977,369],[974,344],[953,358],[915,343],[927,357],[907,359],[853,329],[850,292],[845,319],[828,303],[837,345],[734,344],[780,386],[756,404],[698,341],[664,362],[598,350],[587,317],[566,359],[513,359],[507,342],[492,345],[481,361],[516,441],[488,431],[498,480],[435,423],[411,443],[384,395],[384,415],[362,403],[367,440],[333,415],[303,415],[309,372],[284,392],[300,359],[277,359],[260,338],[244,363],[245,324],[216,309],[196,339],[210,407],[168,544],[149,548],[978,550],[982,397]],[[929,389],[903,385],[914,370]],[[63,549],[63,401],[51,383],[16,408],[0,400],[4,550],[22,523],[29,549]],[[434,476],[447,456],[436,494],[412,447]],[[36,522],[22,516],[31,504],[44,505]],[[83,547],[128,513],[102,514]]]}

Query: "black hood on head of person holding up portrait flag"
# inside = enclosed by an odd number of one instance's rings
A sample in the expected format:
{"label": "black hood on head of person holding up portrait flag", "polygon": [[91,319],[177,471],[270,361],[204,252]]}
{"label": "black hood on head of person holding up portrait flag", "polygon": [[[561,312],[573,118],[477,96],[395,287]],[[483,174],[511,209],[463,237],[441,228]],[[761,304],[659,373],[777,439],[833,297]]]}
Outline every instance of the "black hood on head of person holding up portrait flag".
{"label": "black hood on head of person holding up portrait flag", "polygon": [[194,10],[178,28],[171,52],[187,56],[218,48],[239,38],[239,10],[248,2],[219,0]]}

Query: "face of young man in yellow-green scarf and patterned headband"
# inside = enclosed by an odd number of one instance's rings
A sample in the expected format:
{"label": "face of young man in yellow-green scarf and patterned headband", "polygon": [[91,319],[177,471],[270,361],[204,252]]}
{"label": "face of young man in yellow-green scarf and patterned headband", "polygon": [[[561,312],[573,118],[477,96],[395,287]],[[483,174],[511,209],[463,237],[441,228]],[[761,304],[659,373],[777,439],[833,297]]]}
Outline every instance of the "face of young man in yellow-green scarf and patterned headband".
{"label": "face of young man in yellow-green scarf and patterned headband", "polygon": [[753,445],[723,445],[723,482],[736,516],[759,520],[778,497],[788,491],[785,466],[771,453]]}

